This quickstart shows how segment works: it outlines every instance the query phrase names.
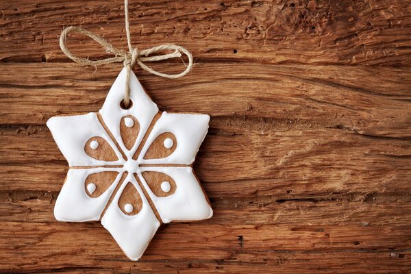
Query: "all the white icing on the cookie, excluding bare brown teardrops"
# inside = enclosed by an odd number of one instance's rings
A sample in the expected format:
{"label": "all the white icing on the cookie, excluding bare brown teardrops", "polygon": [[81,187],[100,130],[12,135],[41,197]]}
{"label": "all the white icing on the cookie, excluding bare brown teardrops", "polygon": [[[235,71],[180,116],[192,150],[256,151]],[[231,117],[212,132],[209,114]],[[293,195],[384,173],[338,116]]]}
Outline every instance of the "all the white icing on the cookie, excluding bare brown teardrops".
{"label": "all the white icing on the cookie, excluding bare brown teardrops", "polygon": [[[127,178],[119,186],[119,191],[116,192],[112,203],[110,203],[105,211],[101,223],[112,234],[126,255],[132,260],[138,260],[160,226],[160,222],[155,217],[144,192],[137,184],[133,174],[138,174],[140,177],[140,181],[146,188],[164,223],[171,221],[195,221],[208,219],[212,216],[212,209],[190,166],[141,167],[141,164],[191,164],[195,159],[203,138],[206,136],[210,116],[162,113],[162,116],[150,132],[147,142],[138,156],[138,160],[133,160],[132,155],[134,155],[143,136],[145,136],[153,117],[158,112],[158,108],[149,99],[133,72],[130,73],[130,88],[130,98],[133,101],[133,105],[129,110],[123,110],[120,107],[125,90],[125,69],[123,69],[110,89],[103,108],[100,110],[105,125],[110,129],[119,147],[123,150],[127,159],[129,159],[127,161],[117,149],[114,140],[111,140],[109,134],[105,132],[96,113],[76,116],[55,116],[47,121],[47,126],[53,134],[53,138],[62,154],[67,162],[69,162],[69,166],[82,166],[84,168],[69,169],[66,182],[63,184],[55,203],[55,219],[59,221],[99,220],[114,189],[119,184],[123,172],[127,171]],[[140,124],[140,132],[130,151],[123,144],[120,133],[121,119],[127,115],[136,117]],[[133,127],[133,119],[125,117],[125,125]],[[178,143],[175,151],[164,159],[143,160],[153,140],[164,132],[171,132],[175,135]],[[104,138],[112,147],[119,160],[106,162],[96,160],[87,155],[84,151],[84,146],[92,137]],[[171,148],[173,145],[174,142],[171,138],[164,140],[164,147]],[[90,142],[92,149],[97,149],[98,146],[99,143],[97,141]],[[119,165],[121,167],[97,167],[110,165]],[[91,166],[91,168],[86,169],[88,166]],[[96,185],[90,183],[84,188],[86,177],[92,173],[103,171],[117,171],[119,175],[117,175],[113,184],[99,197],[89,197],[86,191],[91,195],[92,192],[95,192]],[[142,177],[142,171],[157,171],[172,177],[177,185],[173,195],[169,197],[156,197]],[[124,214],[118,204],[127,182],[131,182],[134,185],[142,198],[142,209],[133,216]],[[162,182],[161,188],[164,192],[169,192],[171,185],[169,182]],[[134,208],[131,204],[126,204],[123,210],[125,212],[132,212]]]}

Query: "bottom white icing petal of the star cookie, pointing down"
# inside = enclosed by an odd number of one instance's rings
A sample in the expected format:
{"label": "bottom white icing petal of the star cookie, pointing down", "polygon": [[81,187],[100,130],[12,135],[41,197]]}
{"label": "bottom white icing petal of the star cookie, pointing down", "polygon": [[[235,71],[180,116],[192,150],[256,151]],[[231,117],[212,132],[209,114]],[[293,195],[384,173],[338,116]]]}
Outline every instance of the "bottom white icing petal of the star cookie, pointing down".
{"label": "bottom white icing petal of the star cookie, pointing down", "polygon": [[129,216],[119,208],[119,199],[127,184],[122,184],[117,191],[112,203],[105,211],[101,224],[107,229],[113,238],[123,249],[125,255],[131,260],[138,260],[145,251],[151,238],[153,238],[160,221],[155,217],[149,202],[143,195],[134,176],[129,175],[126,183],[132,183],[142,199],[142,208],[138,214]]}

